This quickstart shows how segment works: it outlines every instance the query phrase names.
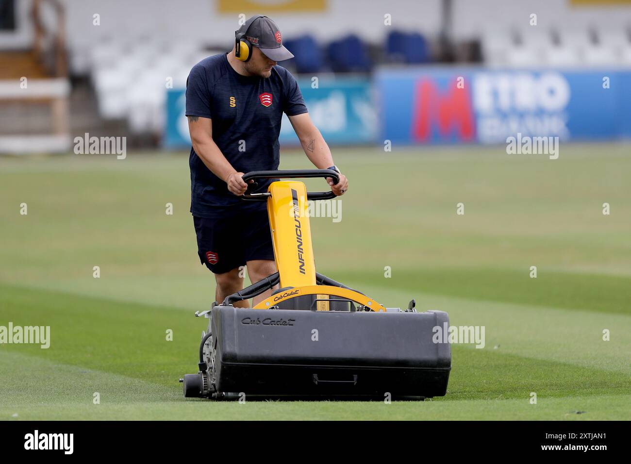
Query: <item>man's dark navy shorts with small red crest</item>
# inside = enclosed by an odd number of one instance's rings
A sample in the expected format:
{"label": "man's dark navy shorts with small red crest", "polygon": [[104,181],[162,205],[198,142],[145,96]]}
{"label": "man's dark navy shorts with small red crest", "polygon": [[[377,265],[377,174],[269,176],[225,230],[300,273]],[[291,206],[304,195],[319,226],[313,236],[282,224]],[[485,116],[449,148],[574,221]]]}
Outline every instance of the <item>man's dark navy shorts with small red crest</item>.
{"label": "man's dark navy shorts with small red crest", "polygon": [[253,259],[274,260],[268,211],[247,211],[227,218],[193,216],[199,261],[215,274],[245,266]]}

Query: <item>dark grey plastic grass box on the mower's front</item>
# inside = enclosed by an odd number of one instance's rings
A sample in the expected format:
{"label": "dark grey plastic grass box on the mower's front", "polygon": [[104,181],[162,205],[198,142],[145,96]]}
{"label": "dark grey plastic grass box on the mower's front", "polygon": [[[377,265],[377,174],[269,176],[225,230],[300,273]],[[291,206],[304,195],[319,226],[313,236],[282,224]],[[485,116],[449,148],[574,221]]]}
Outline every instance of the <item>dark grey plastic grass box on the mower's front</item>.
{"label": "dark grey plastic grass box on the mower's front", "polygon": [[218,391],[252,395],[443,396],[449,343],[433,343],[442,311],[264,311],[216,306]]}

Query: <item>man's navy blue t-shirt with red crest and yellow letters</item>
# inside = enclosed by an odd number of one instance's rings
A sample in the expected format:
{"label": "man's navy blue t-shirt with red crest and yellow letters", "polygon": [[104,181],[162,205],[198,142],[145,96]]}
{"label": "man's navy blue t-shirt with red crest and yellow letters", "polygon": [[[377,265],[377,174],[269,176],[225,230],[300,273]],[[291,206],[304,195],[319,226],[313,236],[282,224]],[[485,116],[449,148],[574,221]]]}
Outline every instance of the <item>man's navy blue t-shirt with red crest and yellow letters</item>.
{"label": "man's navy blue t-shirt with red crest and yellow letters", "polygon": [[[274,66],[269,78],[242,76],[227,54],[203,59],[186,83],[186,116],[212,119],[213,140],[237,172],[278,169],[281,117],[307,112],[292,74]],[[216,218],[264,208],[262,201],[244,201],[209,170],[191,146],[191,213]],[[258,181],[256,192],[271,181]]]}

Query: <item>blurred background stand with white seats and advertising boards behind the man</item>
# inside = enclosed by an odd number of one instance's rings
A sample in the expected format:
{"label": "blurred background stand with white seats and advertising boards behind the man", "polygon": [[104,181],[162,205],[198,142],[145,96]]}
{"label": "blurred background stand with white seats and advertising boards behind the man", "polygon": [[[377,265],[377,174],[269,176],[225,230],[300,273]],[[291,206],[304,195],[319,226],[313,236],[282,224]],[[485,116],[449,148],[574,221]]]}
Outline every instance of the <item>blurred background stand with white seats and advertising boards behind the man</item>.
{"label": "blurred background stand with white seats and advertising boards behind the man", "polygon": [[[473,132],[465,132],[477,143],[497,143],[502,128],[525,133],[524,121],[550,118],[575,126],[541,135],[614,140],[631,133],[629,118],[615,116],[631,81],[631,0],[248,5],[0,0],[0,153],[63,152],[85,133],[126,136],[128,148],[186,150],[187,76],[205,57],[232,49],[240,13],[277,21],[295,54],[280,64],[297,77],[331,145],[469,142],[454,137],[454,127],[472,118]],[[562,108],[540,105],[545,73],[556,73],[557,90],[569,89]],[[608,93],[603,76],[615,83]],[[454,78],[466,78],[464,92],[448,92]],[[420,89],[432,98],[420,98]],[[609,115],[598,131],[584,108]],[[419,138],[410,127],[424,114],[433,126]],[[298,146],[283,121],[281,146]]]}

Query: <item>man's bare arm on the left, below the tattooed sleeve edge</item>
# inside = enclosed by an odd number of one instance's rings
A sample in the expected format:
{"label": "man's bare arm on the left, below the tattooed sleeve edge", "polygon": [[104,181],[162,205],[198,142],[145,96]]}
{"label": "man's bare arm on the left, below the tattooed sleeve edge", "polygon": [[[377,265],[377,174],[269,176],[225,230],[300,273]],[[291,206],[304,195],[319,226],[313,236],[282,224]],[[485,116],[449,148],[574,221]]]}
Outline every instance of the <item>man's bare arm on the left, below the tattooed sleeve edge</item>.
{"label": "man's bare arm on the left, below the tattooed sleeve edge", "polygon": [[213,174],[228,184],[228,190],[235,195],[243,194],[247,188],[247,184],[241,179],[243,173],[232,167],[213,140],[212,119],[199,116],[188,116],[188,119],[195,153]]}

